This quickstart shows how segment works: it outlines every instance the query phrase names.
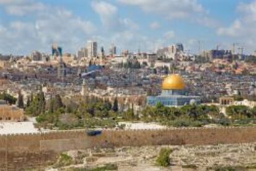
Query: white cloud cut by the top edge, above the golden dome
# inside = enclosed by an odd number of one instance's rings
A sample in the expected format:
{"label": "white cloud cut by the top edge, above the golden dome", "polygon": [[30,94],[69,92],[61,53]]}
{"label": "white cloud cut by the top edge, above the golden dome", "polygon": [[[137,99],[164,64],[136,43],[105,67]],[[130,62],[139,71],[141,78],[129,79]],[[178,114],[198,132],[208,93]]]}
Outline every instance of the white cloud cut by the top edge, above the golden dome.
{"label": "white cloud cut by the top edge, above the golden dome", "polygon": [[163,16],[166,19],[187,19],[207,27],[216,27],[215,20],[208,17],[208,12],[197,0],[117,0],[123,4],[138,6],[148,13]]}

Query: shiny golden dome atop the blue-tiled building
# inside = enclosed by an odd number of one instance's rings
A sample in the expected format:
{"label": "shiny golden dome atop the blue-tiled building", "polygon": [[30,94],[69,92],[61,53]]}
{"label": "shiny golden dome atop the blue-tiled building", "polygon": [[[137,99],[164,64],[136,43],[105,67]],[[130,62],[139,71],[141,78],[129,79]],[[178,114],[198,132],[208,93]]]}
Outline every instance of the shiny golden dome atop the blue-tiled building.
{"label": "shiny golden dome atop the blue-tiled building", "polygon": [[164,78],[162,83],[163,90],[184,90],[186,85],[183,78],[178,74],[172,74]]}

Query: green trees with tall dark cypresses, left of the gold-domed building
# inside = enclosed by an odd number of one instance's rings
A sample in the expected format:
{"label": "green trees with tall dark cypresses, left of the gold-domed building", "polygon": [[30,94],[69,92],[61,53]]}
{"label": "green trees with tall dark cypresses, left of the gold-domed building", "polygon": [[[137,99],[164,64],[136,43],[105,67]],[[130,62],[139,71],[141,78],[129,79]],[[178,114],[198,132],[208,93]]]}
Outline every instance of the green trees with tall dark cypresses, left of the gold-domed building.
{"label": "green trees with tall dark cypresses, left of the gold-domed building", "polygon": [[113,104],[95,97],[86,97],[80,102],[62,102],[57,94],[45,105],[43,94],[38,93],[26,109],[26,114],[36,116],[38,127],[72,129],[84,127],[116,127],[119,115],[117,98]]}

